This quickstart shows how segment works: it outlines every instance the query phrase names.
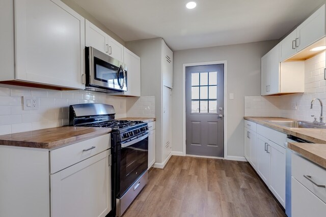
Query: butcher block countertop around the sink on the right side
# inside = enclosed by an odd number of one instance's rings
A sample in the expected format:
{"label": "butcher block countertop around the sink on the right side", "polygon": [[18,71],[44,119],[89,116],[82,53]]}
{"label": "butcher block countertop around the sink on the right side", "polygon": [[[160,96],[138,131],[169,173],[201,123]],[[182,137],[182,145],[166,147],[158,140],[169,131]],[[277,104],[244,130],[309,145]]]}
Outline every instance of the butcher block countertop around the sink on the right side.
{"label": "butcher block countertop around the sink on the right side", "polygon": [[289,142],[288,147],[326,169],[326,129],[293,129],[268,122],[269,120],[293,120],[281,117],[244,117],[244,119],[315,143]]}

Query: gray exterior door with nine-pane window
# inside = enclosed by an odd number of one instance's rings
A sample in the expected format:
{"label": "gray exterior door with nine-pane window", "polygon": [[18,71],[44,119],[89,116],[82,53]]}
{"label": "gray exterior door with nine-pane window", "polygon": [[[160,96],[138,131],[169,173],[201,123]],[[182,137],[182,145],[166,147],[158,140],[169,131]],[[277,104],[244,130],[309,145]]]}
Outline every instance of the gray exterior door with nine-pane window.
{"label": "gray exterior door with nine-pane window", "polygon": [[224,157],[224,64],[185,68],[186,153]]}

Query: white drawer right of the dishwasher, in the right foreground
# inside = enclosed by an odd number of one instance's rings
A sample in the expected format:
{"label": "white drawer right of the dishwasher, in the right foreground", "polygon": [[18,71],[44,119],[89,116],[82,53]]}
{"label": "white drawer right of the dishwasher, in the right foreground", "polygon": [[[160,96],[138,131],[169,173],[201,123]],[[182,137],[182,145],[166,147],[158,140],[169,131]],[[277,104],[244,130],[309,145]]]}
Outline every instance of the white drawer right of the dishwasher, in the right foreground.
{"label": "white drawer right of the dishwasher, in the right foreground", "polygon": [[[312,182],[314,181],[317,184],[326,185],[326,170],[295,153],[292,153],[291,165],[292,176],[323,202],[326,202],[326,188],[317,187],[317,185]],[[304,175],[307,177],[311,176],[310,179],[312,181],[308,180]]]}

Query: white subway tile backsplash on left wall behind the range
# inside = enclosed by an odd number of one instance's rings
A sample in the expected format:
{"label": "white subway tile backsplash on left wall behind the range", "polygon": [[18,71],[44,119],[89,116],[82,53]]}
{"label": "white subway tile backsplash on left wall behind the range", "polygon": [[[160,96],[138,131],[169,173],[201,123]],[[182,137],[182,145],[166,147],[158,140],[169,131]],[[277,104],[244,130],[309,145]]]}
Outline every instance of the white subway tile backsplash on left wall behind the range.
{"label": "white subway tile backsplash on left wall behind the range", "polygon": [[[22,96],[38,97],[39,109],[23,110]],[[0,135],[69,125],[69,105],[79,103],[111,104],[116,118],[123,118],[126,101],[88,90],[57,91],[0,84]]]}

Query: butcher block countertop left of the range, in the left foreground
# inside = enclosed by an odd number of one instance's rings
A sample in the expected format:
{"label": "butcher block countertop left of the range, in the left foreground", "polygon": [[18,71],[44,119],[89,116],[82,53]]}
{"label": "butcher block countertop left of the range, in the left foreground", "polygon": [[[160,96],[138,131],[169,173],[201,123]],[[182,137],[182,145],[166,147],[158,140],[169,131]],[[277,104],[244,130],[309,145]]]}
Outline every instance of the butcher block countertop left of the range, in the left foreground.
{"label": "butcher block countertop left of the range, in the left foreground", "polygon": [[108,134],[111,128],[58,127],[0,136],[0,145],[53,149]]}

